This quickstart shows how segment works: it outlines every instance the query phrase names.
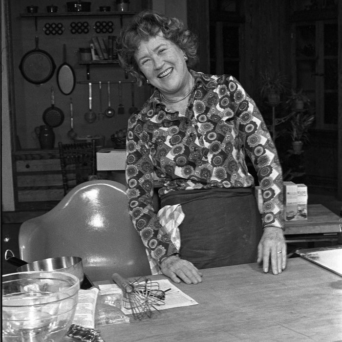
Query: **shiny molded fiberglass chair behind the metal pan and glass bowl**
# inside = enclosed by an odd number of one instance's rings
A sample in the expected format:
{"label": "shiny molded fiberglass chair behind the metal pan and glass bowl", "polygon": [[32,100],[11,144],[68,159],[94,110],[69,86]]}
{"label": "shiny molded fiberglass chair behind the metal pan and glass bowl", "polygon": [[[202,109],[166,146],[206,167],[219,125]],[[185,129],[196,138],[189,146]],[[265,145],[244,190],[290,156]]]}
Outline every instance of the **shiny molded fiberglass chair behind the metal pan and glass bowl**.
{"label": "shiny molded fiberglass chair behind the metal pan and glass bowl", "polygon": [[110,180],[82,183],[49,212],[21,224],[19,250],[32,262],[79,256],[92,281],[150,275],[145,247],[128,214],[125,186]]}

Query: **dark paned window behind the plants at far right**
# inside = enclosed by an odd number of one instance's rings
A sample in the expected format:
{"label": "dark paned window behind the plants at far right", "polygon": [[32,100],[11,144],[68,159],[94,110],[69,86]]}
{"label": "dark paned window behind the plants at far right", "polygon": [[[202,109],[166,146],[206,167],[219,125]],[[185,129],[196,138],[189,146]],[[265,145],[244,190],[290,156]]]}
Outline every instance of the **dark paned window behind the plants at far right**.
{"label": "dark paned window behind the plants at far right", "polygon": [[316,128],[337,129],[338,25],[337,20],[295,24],[295,86],[309,96]]}

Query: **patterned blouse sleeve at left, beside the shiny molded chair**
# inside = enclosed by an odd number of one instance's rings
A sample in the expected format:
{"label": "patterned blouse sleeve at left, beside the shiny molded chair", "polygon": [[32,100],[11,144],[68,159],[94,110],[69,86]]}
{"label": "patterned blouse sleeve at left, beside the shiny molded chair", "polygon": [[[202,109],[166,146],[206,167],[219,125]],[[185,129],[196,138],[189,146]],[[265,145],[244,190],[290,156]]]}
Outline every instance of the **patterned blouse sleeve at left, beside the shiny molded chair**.
{"label": "patterned blouse sleeve at left, beside the shiny molded chair", "polygon": [[161,224],[153,209],[153,163],[140,114],[128,121],[126,143],[126,181],[128,212],[150,256],[159,264],[176,247],[165,235],[159,234]]}

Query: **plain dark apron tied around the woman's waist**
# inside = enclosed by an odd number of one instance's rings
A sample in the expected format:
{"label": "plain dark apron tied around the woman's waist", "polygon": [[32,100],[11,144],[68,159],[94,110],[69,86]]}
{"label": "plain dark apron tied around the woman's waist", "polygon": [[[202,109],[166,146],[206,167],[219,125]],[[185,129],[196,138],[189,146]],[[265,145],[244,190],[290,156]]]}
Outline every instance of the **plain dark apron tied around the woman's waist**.
{"label": "plain dark apron tied around the woman's waist", "polygon": [[256,262],[262,234],[254,188],[173,191],[161,207],[181,204],[180,257],[197,268]]}

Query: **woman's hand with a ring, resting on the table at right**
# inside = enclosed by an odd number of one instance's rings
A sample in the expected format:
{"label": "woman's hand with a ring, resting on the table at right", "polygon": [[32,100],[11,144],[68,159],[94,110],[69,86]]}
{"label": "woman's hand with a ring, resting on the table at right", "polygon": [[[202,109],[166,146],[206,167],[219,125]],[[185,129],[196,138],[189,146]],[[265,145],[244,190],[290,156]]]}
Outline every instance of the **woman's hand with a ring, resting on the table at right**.
{"label": "woman's hand with a ring, resting on the table at right", "polygon": [[273,274],[281,273],[286,267],[286,254],[283,231],[278,227],[265,227],[257,246],[257,262],[262,261],[264,272],[268,273],[271,259]]}

